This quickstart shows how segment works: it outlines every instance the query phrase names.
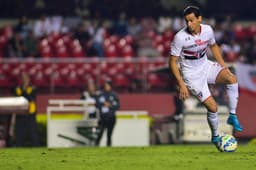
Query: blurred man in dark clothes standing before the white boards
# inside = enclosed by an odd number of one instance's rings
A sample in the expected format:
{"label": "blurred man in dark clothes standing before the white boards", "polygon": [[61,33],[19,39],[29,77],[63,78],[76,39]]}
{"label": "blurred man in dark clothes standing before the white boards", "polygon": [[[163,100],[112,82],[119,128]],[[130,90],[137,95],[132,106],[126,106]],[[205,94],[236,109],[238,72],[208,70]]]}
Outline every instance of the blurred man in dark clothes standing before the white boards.
{"label": "blurred man in dark clothes standing before the white boards", "polygon": [[116,111],[120,107],[119,97],[112,90],[111,81],[105,82],[97,105],[100,111],[100,132],[96,140],[96,145],[99,145],[103,132],[107,128],[107,146],[111,146],[111,137],[116,123]]}

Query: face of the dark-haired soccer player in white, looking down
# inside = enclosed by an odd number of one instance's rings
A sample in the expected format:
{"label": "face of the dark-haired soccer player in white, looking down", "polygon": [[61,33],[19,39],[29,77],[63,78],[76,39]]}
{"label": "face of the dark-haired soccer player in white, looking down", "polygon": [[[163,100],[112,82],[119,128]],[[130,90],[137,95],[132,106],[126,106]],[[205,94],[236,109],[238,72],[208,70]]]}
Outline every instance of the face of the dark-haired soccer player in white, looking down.
{"label": "face of the dark-haired soccer player in white, looking down", "polygon": [[185,21],[189,31],[192,34],[197,34],[200,32],[200,23],[202,21],[202,16],[196,17],[194,13],[185,16]]}

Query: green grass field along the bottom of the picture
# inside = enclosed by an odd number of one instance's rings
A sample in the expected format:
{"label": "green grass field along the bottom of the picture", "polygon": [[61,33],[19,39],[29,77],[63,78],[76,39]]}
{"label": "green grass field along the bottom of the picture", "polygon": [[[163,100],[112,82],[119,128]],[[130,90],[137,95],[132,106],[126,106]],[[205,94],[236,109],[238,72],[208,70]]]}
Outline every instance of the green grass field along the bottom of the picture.
{"label": "green grass field along the bottom of the picture", "polygon": [[256,145],[220,153],[213,145],[0,149],[1,170],[249,170]]}

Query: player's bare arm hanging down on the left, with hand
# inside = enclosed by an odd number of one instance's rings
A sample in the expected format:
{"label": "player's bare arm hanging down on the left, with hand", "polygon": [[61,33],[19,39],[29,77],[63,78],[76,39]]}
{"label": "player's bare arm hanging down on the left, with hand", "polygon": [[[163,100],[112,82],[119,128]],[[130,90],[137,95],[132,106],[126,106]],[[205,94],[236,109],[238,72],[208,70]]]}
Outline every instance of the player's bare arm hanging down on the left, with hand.
{"label": "player's bare arm hanging down on the left, with hand", "polygon": [[189,91],[187,89],[187,86],[185,85],[185,82],[183,81],[183,78],[180,74],[178,65],[177,65],[177,57],[176,56],[170,56],[169,58],[169,69],[173,76],[175,77],[178,87],[179,87],[179,98],[181,100],[185,100],[189,97]]}

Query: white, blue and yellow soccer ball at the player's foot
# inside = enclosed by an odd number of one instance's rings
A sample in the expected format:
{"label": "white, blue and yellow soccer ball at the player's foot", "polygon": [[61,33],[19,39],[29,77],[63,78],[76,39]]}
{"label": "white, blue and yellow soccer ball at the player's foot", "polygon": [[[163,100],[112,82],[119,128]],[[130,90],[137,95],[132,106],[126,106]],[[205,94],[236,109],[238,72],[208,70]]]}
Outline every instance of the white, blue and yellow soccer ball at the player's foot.
{"label": "white, blue and yellow soccer ball at the player's foot", "polygon": [[232,135],[221,136],[219,149],[221,152],[234,152],[237,148],[237,140]]}

